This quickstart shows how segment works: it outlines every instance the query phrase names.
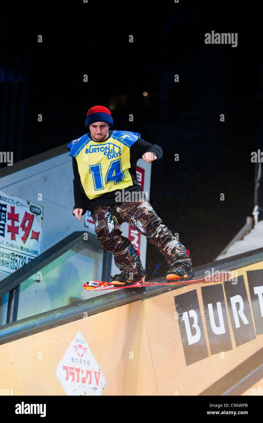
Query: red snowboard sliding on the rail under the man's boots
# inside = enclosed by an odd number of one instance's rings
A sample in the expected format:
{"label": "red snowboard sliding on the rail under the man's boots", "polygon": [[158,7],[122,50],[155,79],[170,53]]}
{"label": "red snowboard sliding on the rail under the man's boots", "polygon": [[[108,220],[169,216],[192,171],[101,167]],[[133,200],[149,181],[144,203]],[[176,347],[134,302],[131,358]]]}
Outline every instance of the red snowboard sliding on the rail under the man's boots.
{"label": "red snowboard sliding on the rail under the man's boots", "polygon": [[[193,275],[194,277],[194,275]],[[220,272],[215,273],[211,276],[202,277],[201,279],[174,279],[168,281],[166,277],[163,278],[163,282],[153,282],[151,280],[144,281],[144,282],[136,282],[131,283],[130,285],[125,286],[114,286],[111,282],[103,282],[100,280],[90,280],[89,282],[85,282],[83,288],[87,291],[103,291],[105,289],[125,289],[125,288],[142,288],[144,286],[158,286],[158,285],[193,285],[195,283],[217,283],[217,282],[225,282],[231,278],[230,272]]]}

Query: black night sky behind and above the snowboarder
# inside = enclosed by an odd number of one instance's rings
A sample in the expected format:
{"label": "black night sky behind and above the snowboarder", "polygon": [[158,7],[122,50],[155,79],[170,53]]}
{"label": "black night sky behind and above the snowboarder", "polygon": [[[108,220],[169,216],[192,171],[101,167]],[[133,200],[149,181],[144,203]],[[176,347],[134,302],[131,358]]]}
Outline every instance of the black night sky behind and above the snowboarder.
{"label": "black night sky behind and above the snowboarder", "polygon": [[[114,129],[163,148],[150,203],[193,266],[212,261],[254,206],[250,158],[263,135],[259,11],[251,2],[244,10],[181,0],[54,4],[19,3],[2,14],[1,151],[18,162],[69,143],[85,133],[90,107],[109,107]],[[212,30],[238,33],[238,46],[206,45]],[[158,262],[164,274],[165,259],[149,243],[147,251],[149,277]]]}

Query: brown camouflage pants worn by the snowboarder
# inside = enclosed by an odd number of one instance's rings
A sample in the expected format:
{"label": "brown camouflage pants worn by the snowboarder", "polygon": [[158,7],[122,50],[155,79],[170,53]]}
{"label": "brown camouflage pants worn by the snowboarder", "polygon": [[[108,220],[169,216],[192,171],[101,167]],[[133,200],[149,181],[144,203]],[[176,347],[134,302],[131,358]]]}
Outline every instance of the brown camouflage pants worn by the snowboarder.
{"label": "brown camouflage pants worn by the snowboarder", "polygon": [[106,251],[114,254],[118,269],[138,274],[141,260],[128,238],[122,236],[120,225],[127,222],[139,233],[145,235],[151,244],[156,245],[159,253],[165,256],[168,264],[182,258],[192,265],[186,248],[163,224],[148,201],[126,202],[112,206],[96,206],[92,212],[95,232],[100,244]]}

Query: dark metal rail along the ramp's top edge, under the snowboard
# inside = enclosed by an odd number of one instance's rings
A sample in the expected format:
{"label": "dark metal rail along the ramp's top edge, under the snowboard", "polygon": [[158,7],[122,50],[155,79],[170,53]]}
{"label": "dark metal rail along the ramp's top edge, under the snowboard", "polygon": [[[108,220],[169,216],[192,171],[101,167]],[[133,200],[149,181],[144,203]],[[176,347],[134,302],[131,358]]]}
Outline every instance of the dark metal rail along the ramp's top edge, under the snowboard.
{"label": "dark metal rail along the ramp's top edge, under the snowboard", "polygon": [[[81,236],[82,235],[83,233],[81,232]],[[109,258],[111,258],[111,255]],[[222,269],[231,271],[260,261],[263,261],[263,248],[203,264],[195,267],[193,272],[195,278],[201,278],[205,276],[207,269],[213,268],[215,272],[218,270],[222,271]],[[164,280],[166,280],[166,276],[155,279],[156,282],[164,282]],[[25,336],[33,335],[34,333],[42,332],[43,330],[48,330],[71,321],[83,319],[84,313],[87,313],[88,316],[92,316],[93,314],[120,307],[130,302],[153,297],[179,288],[182,288],[182,285],[117,289],[108,294],[86,299],[73,305],[66,305],[55,310],[27,317],[26,319],[14,321],[13,323],[8,323],[0,327],[0,344],[15,341],[16,339],[24,338]]]}

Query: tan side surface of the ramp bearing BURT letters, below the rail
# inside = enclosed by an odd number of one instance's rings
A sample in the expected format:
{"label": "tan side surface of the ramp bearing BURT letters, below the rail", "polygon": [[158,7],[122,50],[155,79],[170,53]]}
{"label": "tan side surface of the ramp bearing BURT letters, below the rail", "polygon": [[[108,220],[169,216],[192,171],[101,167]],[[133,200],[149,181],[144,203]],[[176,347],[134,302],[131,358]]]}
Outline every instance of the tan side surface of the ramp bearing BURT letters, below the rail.
{"label": "tan side surface of the ramp bearing BURT letters, below the rail", "polygon": [[[66,395],[55,370],[81,331],[107,381],[102,395],[196,396],[263,348],[261,269],[263,262],[237,269],[237,283],[171,289],[0,345],[0,389],[23,396]],[[211,297],[213,289],[220,300]],[[207,298],[214,327],[220,330],[221,311],[225,323],[225,333],[214,338]],[[242,395],[256,395],[259,382]]]}

